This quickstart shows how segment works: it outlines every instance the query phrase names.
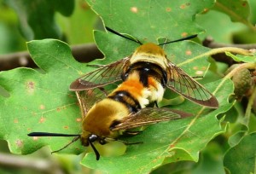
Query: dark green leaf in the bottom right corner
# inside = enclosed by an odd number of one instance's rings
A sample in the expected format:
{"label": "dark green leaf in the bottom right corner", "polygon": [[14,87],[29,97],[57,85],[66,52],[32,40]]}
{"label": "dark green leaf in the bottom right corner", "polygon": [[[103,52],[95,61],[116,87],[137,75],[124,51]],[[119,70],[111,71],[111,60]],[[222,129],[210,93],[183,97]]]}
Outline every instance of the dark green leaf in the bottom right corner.
{"label": "dark green leaf in the bottom right corner", "polygon": [[224,165],[232,174],[255,173],[256,133],[244,136],[224,156]]}

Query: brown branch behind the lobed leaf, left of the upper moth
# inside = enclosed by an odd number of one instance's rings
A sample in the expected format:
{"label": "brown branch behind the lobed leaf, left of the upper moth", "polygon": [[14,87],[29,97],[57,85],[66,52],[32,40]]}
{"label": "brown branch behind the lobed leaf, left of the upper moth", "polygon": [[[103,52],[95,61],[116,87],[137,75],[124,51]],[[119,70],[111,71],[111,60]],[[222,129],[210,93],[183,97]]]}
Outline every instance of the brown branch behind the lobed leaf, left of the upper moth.
{"label": "brown branch behind the lobed leaf, left of the upper moth", "polygon": [[[89,62],[103,55],[96,44],[79,44],[71,47],[73,57],[77,61]],[[0,55],[0,71],[14,69],[15,67],[37,67],[27,51],[8,55]]]}

